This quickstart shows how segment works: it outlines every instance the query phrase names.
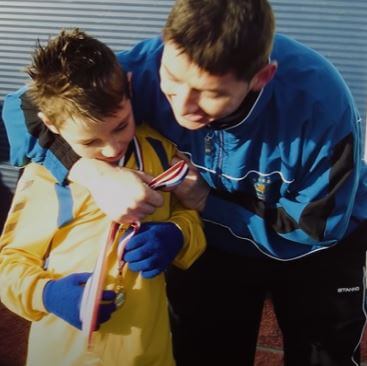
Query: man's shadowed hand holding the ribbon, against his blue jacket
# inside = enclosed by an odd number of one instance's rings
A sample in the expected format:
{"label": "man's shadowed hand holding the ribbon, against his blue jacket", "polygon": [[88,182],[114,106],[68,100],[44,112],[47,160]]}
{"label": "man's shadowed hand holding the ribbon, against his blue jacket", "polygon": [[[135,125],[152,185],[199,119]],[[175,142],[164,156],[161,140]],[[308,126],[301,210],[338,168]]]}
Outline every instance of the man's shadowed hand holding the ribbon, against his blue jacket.
{"label": "man's shadowed hand holding the ribbon, against his blue jacket", "polygon": [[[182,158],[184,157],[180,156],[180,159],[173,158],[171,164],[176,163],[178,160],[182,160]],[[173,193],[186,208],[201,212],[206,205],[206,199],[210,192],[210,188],[201,177],[198,169],[187,161],[186,158],[185,160],[189,164],[190,170],[185,180],[173,190]]]}

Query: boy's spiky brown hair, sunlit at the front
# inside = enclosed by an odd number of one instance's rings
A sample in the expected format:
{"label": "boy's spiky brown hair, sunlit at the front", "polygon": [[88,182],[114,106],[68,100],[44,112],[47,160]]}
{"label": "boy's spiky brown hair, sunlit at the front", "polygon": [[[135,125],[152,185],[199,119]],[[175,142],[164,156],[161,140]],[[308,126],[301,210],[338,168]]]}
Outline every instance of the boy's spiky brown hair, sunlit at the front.
{"label": "boy's spiky brown hair, sunlit at the front", "polygon": [[129,98],[115,54],[78,28],[62,30],[45,46],[38,41],[27,73],[31,99],[55,126],[69,117],[100,121]]}

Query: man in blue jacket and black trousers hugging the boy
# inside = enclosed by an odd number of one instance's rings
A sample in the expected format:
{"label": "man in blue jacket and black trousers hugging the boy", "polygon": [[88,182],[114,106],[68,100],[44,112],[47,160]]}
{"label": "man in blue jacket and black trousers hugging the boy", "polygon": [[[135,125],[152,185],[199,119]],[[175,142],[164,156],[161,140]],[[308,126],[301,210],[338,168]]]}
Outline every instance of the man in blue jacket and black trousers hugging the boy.
{"label": "man in blue jacket and black trousers hugging the boy", "polygon": [[[266,0],[178,0],[163,41],[118,58],[132,73],[136,120],[191,160],[175,193],[205,220],[205,254],[188,272],[167,274],[177,364],[251,365],[267,293],[286,365],[358,364],[366,173],[361,120],[339,73],[274,35]],[[62,141],[37,139],[32,113],[26,93],[8,97],[4,118],[18,163],[26,150],[60,180],[72,168],[69,178],[119,221],[161,204],[144,184],[132,191],[131,172],[61,155]]]}

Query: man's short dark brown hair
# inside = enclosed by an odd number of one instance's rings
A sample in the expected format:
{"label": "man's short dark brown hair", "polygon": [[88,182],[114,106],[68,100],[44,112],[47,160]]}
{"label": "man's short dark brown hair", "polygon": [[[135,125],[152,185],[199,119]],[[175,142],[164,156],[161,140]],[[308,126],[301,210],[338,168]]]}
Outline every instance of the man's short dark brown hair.
{"label": "man's short dark brown hair", "polygon": [[268,62],[274,28],[266,0],[177,0],[163,38],[203,70],[249,81]]}

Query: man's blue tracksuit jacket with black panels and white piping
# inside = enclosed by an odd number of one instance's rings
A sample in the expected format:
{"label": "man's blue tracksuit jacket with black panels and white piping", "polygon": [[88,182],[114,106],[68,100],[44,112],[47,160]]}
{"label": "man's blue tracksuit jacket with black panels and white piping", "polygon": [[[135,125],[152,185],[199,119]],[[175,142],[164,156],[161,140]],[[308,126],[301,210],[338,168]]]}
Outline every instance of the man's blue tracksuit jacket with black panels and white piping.
{"label": "man's blue tracksuit jacket with black panels and white piping", "polygon": [[[133,73],[133,107],[190,156],[212,191],[202,213],[208,245],[290,260],[337,243],[366,220],[361,119],[338,71],[304,45],[276,35],[274,79],[248,115],[218,128],[180,127],[160,91],[160,38],[117,54]],[[40,126],[26,88],[4,104],[12,162],[43,163],[64,180],[77,156]]]}

